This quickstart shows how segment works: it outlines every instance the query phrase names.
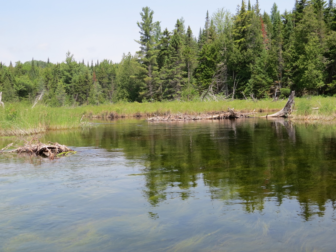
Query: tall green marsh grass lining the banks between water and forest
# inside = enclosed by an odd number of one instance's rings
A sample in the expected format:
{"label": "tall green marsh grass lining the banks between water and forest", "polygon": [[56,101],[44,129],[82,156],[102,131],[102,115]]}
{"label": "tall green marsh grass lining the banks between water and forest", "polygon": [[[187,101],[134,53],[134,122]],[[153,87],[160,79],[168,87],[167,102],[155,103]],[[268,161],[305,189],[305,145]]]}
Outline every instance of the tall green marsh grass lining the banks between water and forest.
{"label": "tall green marsh grass lining the banks between water and forest", "polygon": [[[38,104],[31,108],[30,103],[6,104],[0,108],[0,136],[27,135],[46,130],[61,130],[87,127],[88,123],[81,121],[87,117],[134,117],[165,114],[210,114],[217,111],[227,111],[234,108],[241,112],[265,112],[281,110],[286,100],[272,102],[271,100],[234,100],[212,102],[154,102],[154,103],[114,103],[101,106],[81,106],[71,108],[50,108]],[[295,98],[293,120],[335,121],[336,98],[314,96]],[[271,112],[270,112],[271,114]]]}

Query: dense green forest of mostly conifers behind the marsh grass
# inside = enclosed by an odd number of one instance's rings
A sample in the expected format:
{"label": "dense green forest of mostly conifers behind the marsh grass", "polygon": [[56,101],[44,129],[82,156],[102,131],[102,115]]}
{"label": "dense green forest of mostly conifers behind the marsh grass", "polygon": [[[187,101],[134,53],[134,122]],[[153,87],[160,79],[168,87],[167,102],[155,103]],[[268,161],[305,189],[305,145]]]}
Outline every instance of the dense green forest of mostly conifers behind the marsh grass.
{"label": "dense green forest of mostly conifers behind the marsh grass", "polygon": [[0,64],[3,101],[50,106],[117,101],[285,97],[336,94],[336,6],[333,0],[296,0],[270,15],[245,0],[236,14],[206,13],[195,36],[183,17],[161,29],[154,11],[140,12],[140,50],[119,63],[77,62],[70,51],[57,64],[34,60]]}

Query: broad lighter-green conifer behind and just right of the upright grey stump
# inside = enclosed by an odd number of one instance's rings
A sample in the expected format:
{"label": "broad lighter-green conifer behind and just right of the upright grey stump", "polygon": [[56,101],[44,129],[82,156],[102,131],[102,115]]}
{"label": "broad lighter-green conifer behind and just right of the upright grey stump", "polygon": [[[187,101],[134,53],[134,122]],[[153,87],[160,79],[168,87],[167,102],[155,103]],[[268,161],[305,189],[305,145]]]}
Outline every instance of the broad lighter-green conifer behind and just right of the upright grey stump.
{"label": "broad lighter-green conifer behind and just right of the upright grey stump", "polygon": [[325,59],[319,37],[320,22],[312,5],[302,12],[285,52],[287,85],[295,90],[316,93],[324,90]]}

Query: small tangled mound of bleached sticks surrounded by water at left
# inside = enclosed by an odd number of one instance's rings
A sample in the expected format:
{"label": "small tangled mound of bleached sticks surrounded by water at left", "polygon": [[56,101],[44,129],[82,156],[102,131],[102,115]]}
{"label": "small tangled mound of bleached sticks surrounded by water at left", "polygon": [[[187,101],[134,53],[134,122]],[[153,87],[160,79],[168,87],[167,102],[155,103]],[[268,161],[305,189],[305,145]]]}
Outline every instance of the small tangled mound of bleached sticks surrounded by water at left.
{"label": "small tangled mound of bleached sticks surrounded by water at left", "polygon": [[[13,143],[8,144],[5,148],[0,150],[0,153],[27,153],[27,154],[36,154],[37,156],[48,157],[50,160],[54,158],[70,155],[76,153],[76,151],[71,150],[68,146],[61,145],[57,142],[41,143],[38,138],[34,137],[30,141],[26,141],[25,145],[16,146]],[[10,147],[16,149],[6,151]]]}

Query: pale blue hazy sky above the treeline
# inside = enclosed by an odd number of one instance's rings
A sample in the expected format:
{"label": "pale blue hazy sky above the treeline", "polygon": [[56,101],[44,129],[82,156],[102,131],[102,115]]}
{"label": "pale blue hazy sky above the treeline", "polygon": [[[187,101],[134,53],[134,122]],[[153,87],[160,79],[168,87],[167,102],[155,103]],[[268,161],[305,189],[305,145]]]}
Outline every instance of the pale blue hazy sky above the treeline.
{"label": "pale blue hazy sky above the treeline", "polygon": [[[251,0],[255,4],[256,0]],[[280,12],[291,10],[294,0],[275,0]],[[274,1],[259,0],[261,11],[270,13]],[[76,61],[119,62],[123,53],[134,54],[139,45],[140,11],[154,10],[154,21],[173,30],[183,16],[194,35],[204,27],[207,10],[225,7],[235,13],[241,0],[0,0],[0,61],[36,60],[61,62],[68,50]]]}

